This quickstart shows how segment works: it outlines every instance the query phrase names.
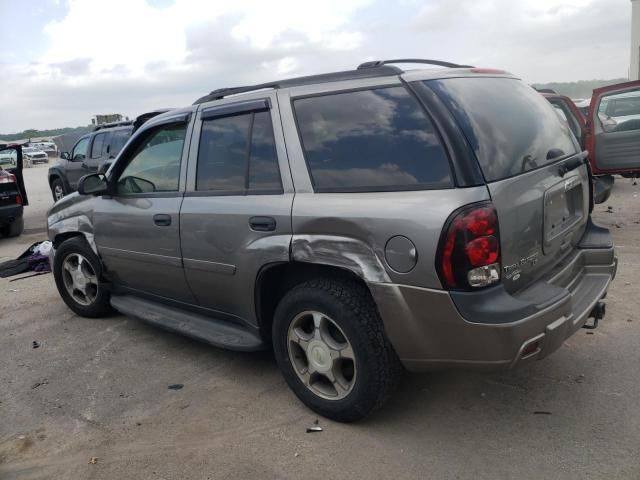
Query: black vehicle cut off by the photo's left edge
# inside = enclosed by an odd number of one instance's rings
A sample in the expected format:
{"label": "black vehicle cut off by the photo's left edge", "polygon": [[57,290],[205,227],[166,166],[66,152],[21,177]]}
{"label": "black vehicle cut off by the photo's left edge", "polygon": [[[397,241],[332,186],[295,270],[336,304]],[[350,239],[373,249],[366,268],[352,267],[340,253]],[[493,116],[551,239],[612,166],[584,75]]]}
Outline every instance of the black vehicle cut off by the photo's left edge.
{"label": "black vehicle cut off by the photo's left edge", "polygon": [[22,147],[0,144],[0,159],[11,159],[0,168],[0,233],[17,237],[24,230],[24,206],[29,204],[22,177]]}

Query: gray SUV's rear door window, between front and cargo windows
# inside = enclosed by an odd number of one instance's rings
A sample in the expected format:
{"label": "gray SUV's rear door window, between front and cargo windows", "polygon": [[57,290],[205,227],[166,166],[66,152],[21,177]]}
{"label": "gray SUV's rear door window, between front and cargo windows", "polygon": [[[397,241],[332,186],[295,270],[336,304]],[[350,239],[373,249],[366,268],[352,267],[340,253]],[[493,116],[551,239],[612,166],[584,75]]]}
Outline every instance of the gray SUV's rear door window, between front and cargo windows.
{"label": "gray SUV's rear door window, between front and cargo windows", "polygon": [[202,122],[196,190],[226,194],[282,192],[269,112]]}

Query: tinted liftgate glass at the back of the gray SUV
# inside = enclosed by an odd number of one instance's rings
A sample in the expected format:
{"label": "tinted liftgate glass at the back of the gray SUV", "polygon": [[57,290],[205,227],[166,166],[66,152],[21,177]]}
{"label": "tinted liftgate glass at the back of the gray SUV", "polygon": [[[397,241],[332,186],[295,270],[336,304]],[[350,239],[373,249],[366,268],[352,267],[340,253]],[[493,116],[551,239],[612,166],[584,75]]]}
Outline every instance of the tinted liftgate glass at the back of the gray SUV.
{"label": "tinted liftgate glass at the back of the gray SUV", "polygon": [[463,77],[424,83],[456,118],[487,181],[577,153],[568,125],[542,95],[520,80]]}

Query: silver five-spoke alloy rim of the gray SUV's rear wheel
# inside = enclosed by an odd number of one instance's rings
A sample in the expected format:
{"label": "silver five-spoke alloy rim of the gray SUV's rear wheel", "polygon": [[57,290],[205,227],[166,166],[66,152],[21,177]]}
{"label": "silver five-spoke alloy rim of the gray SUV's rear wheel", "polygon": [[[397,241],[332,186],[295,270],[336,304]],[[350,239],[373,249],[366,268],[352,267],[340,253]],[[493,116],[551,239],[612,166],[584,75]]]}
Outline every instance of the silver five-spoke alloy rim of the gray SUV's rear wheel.
{"label": "silver five-spoke alloy rim of the gray SUV's rear wheel", "polygon": [[302,312],[287,335],[289,360],[300,381],[326,400],[345,398],[356,382],[356,359],[349,339],[327,315]]}

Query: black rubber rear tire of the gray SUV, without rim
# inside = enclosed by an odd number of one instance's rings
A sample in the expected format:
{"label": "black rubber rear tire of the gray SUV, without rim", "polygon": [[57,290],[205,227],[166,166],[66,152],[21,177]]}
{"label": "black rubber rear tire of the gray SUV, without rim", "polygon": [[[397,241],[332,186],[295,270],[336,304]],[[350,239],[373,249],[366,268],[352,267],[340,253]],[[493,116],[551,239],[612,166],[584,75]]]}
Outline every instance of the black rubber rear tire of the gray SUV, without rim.
{"label": "black rubber rear tire of the gray SUV, without rim", "polygon": [[[329,316],[353,349],[357,375],[342,399],[317,395],[299,378],[290,360],[289,325],[310,310]],[[310,409],[332,420],[352,422],[366,417],[387,401],[400,382],[403,368],[375,303],[356,281],[319,278],[294,287],[276,308],[272,334],[276,360],[289,387]]]}

